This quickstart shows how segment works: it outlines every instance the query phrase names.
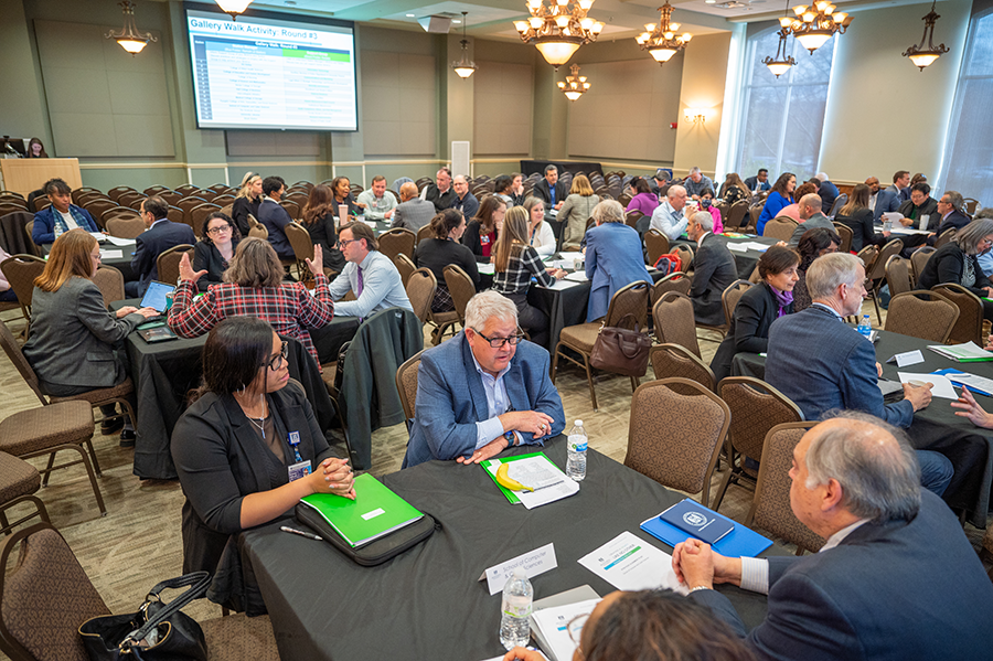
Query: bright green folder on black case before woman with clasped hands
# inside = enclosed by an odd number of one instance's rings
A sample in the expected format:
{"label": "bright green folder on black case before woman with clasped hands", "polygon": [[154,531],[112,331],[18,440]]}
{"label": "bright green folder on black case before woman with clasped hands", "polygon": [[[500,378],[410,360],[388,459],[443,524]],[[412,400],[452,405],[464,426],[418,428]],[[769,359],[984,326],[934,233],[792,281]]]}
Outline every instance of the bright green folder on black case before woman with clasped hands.
{"label": "bright green folder on black case before woman with clasped hands", "polygon": [[355,478],[355,500],[334,493],[312,493],[300,502],[313,508],[352,548],[424,516],[370,473]]}

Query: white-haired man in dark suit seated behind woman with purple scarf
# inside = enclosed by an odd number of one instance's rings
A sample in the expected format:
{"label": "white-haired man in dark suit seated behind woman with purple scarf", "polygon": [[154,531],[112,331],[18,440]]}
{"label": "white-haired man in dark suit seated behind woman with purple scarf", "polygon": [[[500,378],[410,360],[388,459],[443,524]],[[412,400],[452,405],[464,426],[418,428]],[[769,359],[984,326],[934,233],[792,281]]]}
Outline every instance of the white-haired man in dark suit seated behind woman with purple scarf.
{"label": "white-haired man in dark suit seated behind woman with purple scarf", "polygon": [[686,225],[690,241],[695,241],[698,246],[693,258],[690,300],[693,301],[693,316],[697,323],[720,326],[724,323],[720,295],[738,279],[738,268],[734,255],[724,242],[712,234],[713,231],[714,217],[707,211],[694,214]]}

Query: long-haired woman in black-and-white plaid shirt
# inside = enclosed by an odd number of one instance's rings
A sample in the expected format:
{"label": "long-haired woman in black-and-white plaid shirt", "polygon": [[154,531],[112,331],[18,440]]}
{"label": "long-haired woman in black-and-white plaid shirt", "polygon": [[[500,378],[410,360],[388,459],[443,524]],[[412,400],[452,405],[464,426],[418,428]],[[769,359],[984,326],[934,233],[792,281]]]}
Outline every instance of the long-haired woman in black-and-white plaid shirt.
{"label": "long-haired woman in black-and-white plaid shirt", "polygon": [[532,276],[538,285],[551,287],[565,276],[565,271],[560,268],[546,269],[537,252],[531,247],[527,215],[522,206],[506,212],[503,231],[496,238],[493,289],[514,301],[517,323],[527,331],[532,342],[545,347],[548,341],[548,317],[527,302],[527,289]]}

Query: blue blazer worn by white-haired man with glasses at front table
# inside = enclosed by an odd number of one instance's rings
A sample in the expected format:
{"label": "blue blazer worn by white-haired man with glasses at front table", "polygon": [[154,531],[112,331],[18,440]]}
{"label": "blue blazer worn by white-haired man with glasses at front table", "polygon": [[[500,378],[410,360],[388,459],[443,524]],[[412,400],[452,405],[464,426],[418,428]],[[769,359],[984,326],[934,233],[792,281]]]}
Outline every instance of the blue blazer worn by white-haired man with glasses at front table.
{"label": "blue blazer worn by white-haired man with glasses at front table", "polygon": [[[545,439],[565,429],[562,398],[548,379],[548,366],[545,349],[522,341],[503,375],[506,396],[515,411],[537,411],[552,417],[548,434],[535,439],[533,434],[522,433],[523,443],[544,445]],[[417,412],[403,467],[470,456],[476,449],[476,423],[489,418],[482,379],[476,371],[466,331],[460,331],[420,356]]]}

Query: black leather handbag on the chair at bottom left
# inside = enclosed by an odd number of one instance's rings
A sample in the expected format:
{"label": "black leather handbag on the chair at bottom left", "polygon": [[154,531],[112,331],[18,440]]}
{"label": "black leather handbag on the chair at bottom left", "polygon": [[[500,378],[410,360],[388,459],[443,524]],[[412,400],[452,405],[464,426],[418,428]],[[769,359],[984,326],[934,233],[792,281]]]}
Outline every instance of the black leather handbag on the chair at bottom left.
{"label": "black leather handbag on the chair at bottom left", "polygon": [[[206,638],[196,620],[180,609],[206,594],[211,575],[193,572],[163,580],[148,593],[138,612],[108,615],[79,626],[83,647],[92,661],[207,661]],[[163,604],[169,588],[190,589]]]}

